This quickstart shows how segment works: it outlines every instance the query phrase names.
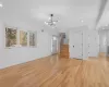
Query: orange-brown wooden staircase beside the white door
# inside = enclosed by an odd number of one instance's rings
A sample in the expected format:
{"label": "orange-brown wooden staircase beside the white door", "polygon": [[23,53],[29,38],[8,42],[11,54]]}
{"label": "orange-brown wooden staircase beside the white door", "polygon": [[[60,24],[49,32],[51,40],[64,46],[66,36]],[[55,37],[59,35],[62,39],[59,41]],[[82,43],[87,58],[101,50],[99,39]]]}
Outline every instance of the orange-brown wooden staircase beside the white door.
{"label": "orange-brown wooden staircase beside the white door", "polygon": [[59,57],[69,59],[69,45],[61,45]]}

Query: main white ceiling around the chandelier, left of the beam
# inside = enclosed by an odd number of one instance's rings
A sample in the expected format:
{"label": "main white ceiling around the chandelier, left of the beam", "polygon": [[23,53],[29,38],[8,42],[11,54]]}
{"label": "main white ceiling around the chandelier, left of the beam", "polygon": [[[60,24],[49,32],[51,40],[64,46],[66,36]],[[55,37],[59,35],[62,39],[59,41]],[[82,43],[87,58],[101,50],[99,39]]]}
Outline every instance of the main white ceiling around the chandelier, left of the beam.
{"label": "main white ceiling around the chandelier, left of the beam", "polygon": [[[98,14],[100,0],[0,0],[3,9],[0,15],[19,17],[36,25],[43,25],[48,21],[49,14],[60,22],[57,27],[87,25],[94,27]],[[83,21],[83,23],[82,23]]]}

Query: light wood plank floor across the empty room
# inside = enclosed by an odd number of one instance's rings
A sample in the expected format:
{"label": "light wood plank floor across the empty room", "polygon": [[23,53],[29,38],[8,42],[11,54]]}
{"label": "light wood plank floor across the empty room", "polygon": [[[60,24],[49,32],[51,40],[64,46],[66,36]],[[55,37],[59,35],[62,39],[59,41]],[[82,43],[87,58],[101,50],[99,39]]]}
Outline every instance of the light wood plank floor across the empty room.
{"label": "light wood plank floor across the empty room", "polygon": [[109,59],[39,59],[1,70],[0,87],[109,87]]}

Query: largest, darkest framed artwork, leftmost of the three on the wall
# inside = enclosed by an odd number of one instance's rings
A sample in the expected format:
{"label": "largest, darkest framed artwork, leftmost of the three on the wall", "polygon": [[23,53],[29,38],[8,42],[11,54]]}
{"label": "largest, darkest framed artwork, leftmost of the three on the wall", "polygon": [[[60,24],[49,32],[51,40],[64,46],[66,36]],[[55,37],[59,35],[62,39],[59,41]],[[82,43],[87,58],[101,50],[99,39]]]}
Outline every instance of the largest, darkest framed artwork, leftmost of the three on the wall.
{"label": "largest, darkest framed artwork, leftmost of the three on the wall", "polygon": [[15,47],[17,44],[17,29],[5,27],[5,47]]}

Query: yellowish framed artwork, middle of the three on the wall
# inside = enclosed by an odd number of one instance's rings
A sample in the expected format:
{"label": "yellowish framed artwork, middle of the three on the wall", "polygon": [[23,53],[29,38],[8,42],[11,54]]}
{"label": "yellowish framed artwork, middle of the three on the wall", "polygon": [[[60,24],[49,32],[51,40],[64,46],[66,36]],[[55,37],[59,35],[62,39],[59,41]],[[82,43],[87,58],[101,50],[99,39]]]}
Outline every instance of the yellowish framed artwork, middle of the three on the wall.
{"label": "yellowish framed artwork, middle of the three on the wall", "polygon": [[20,30],[20,45],[23,47],[27,46],[27,32]]}

